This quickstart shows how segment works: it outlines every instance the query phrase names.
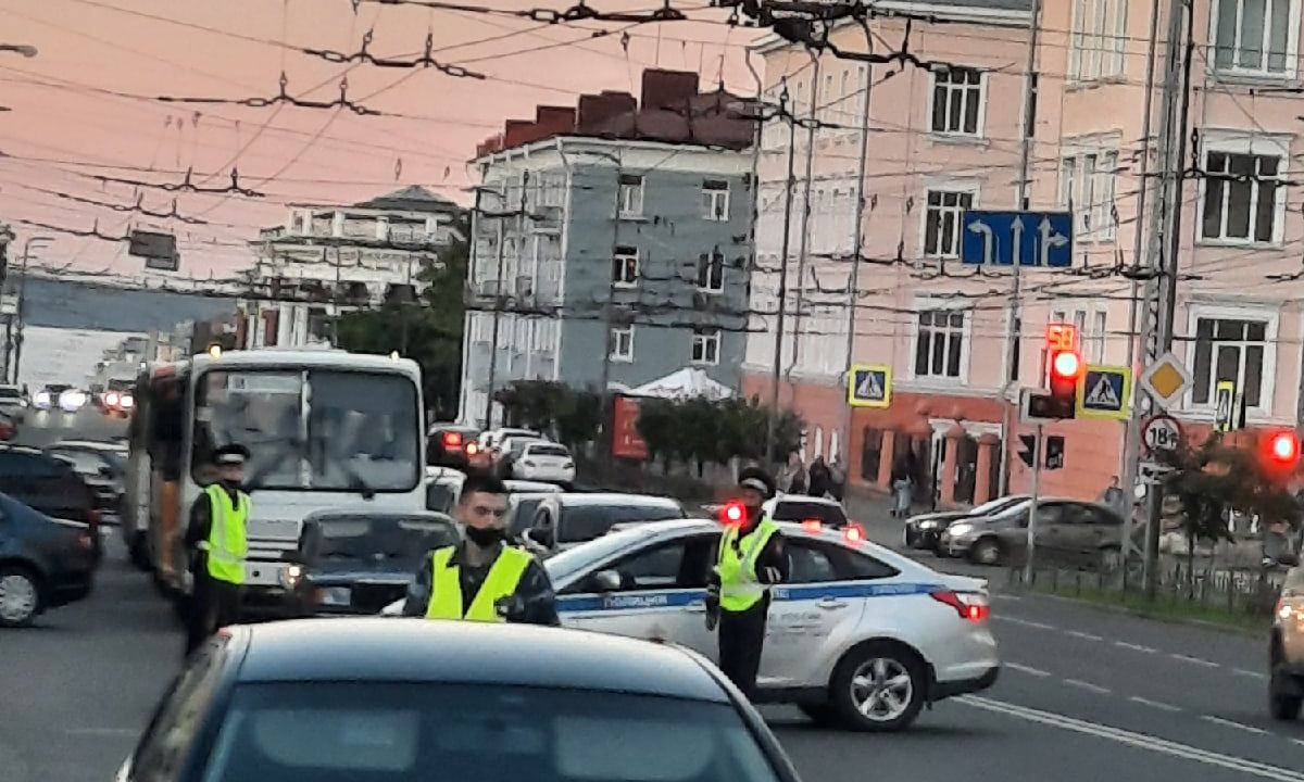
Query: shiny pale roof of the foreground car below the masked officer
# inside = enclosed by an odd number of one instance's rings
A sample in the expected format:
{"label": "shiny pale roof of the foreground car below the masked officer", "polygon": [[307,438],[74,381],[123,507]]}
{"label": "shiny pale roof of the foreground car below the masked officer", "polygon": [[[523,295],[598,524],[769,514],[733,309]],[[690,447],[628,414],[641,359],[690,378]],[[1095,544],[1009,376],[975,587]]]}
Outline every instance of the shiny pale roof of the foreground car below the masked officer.
{"label": "shiny pale roof of the foreground car below the masked officer", "polygon": [[446,682],[661,695],[728,702],[672,645],[609,633],[417,618],[296,619],[237,626],[241,682]]}

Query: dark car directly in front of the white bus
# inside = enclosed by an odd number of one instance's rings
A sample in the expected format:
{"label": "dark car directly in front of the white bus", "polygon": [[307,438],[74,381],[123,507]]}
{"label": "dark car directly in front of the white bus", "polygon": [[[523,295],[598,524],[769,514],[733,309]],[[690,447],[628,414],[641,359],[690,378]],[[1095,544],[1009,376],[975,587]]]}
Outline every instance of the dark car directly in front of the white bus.
{"label": "dark car directly in front of the white bus", "polygon": [[299,615],[378,614],[407,593],[432,549],[458,540],[443,514],[313,514],[299,547]]}

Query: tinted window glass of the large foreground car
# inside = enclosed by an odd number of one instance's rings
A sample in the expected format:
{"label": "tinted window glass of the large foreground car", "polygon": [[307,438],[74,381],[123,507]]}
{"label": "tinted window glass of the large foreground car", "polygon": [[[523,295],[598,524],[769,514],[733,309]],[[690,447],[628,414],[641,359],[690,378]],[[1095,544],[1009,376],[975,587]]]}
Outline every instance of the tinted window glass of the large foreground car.
{"label": "tinted window glass of the large foreground car", "polygon": [[220,725],[203,782],[777,782],[732,705],[648,695],[245,683]]}

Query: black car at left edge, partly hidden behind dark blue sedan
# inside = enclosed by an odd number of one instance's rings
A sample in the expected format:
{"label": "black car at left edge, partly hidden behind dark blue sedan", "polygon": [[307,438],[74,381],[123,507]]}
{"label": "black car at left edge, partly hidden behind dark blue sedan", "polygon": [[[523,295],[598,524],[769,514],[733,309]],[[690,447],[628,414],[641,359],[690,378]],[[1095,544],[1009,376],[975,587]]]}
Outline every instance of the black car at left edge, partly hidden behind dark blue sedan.
{"label": "black car at left edge, partly hidden behind dark blue sedan", "polygon": [[0,491],[52,519],[89,525],[95,555],[103,555],[99,500],[68,463],[38,448],[0,444]]}

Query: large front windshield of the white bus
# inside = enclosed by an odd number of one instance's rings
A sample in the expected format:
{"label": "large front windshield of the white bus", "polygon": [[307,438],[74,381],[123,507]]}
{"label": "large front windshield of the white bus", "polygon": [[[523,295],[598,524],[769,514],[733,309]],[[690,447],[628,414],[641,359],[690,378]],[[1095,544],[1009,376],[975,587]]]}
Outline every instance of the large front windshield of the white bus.
{"label": "large front windshield of the white bus", "polygon": [[248,489],[412,491],[421,480],[416,384],[399,374],[215,369],[196,383],[196,482],[213,448],[249,448]]}

